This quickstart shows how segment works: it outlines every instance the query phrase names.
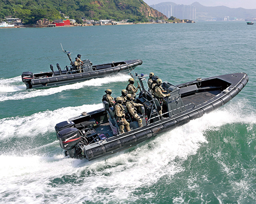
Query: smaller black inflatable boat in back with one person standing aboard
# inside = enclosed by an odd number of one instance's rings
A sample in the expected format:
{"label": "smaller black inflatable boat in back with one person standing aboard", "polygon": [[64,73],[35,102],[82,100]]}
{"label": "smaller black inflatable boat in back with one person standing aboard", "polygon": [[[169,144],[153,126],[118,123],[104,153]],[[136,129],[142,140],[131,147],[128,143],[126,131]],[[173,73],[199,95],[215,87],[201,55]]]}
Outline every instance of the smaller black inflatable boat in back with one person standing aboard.
{"label": "smaller black inflatable boat in back with one person standing aboard", "polygon": [[74,66],[66,66],[62,70],[57,64],[58,71],[42,72],[33,74],[30,71],[22,73],[22,81],[26,84],[27,89],[38,87],[59,86],[82,82],[93,78],[102,78],[117,73],[128,73],[142,64],[142,60],[126,60],[122,62],[112,62],[108,64],[92,65],[90,60],[84,60],[82,72],[78,73]]}

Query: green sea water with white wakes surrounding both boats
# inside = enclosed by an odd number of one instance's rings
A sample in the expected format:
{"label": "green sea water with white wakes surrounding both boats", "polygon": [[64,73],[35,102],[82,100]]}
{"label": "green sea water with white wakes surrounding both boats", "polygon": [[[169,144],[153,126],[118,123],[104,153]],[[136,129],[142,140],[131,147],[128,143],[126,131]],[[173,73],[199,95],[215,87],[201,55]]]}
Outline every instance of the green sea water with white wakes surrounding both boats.
{"label": "green sea water with white wakes surrounding both boats", "polygon": [[[246,22],[0,30],[0,203],[254,203],[256,27]],[[228,104],[93,161],[64,158],[54,126],[121,95],[128,74],[26,90],[23,71],[141,59],[135,71],[181,84],[245,72]]]}

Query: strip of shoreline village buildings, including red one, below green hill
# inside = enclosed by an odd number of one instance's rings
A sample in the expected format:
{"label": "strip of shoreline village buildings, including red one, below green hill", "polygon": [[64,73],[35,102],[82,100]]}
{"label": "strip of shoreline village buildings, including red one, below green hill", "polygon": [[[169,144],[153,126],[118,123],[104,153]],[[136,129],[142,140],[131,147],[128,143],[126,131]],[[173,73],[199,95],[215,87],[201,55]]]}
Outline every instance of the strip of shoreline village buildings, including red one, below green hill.
{"label": "strip of shoreline village buildings, including red one, below green hill", "polygon": [[[22,20],[19,18],[6,18],[6,21],[0,22],[0,28],[19,28],[19,27],[34,27],[34,28],[44,28],[44,27],[72,27],[72,26],[92,26],[92,25],[118,25],[118,24],[142,24],[141,22],[127,22],[129,19],[115,21],[115,20],[91,20],[83,19],[82,23],[77,23],[75,19],[64,19],[64,20],[54,20],[49,21],[44,18],[43,20],[38,20],[36,24],[25,25],[22,23]],[[194,23],[193,20],[152,20],[146,23]]]}

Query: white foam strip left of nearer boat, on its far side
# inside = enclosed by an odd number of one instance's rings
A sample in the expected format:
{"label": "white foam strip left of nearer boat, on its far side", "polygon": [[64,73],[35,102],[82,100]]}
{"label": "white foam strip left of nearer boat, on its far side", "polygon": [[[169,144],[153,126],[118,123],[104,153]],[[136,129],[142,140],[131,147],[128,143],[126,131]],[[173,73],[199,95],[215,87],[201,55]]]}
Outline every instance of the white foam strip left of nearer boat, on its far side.
{"label": "white foam strip left of nearer boat, on its far side", "polygon": [[54,132],[56,123],[80,115],[84,111],[91,112],[100,108],[103,108],[102,104],[83,105],[39,112],[31,116],[4,118],[0,120],[0,140],[11,137],[34,137]]}

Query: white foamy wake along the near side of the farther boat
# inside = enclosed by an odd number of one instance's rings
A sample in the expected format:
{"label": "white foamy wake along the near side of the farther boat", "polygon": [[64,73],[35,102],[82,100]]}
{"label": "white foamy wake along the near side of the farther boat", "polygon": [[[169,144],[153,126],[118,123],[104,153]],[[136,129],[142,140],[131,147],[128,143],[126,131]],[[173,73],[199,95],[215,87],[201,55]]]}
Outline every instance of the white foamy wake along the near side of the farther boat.
{"label": "white foamy wake along the near side of the farther boat", "polygon": [[[13,79],[16,79],[16,78],[13,78]],[[113,77],[97,78],[97,79],[92,79],[92,80],[88,80],[88,81],[84,81],[84,82],[80,82],[80,83],[69,84],[69,85],[64,85],[64,86],[59,86],[59,87],[52,87],[52,88],[45,88],[45,89],[30,89],[30,90],[27,90],[24,92],[18,92],[18,93],[14,93],[14,94],[0,93],[0,101],[20,100],[20,99],[26,99],[26,98],[34,98],[37,96],[47,96],[47,95],[52,95],[55,93],[66,91],[66,90],[80,89],[80,88],[83,88],[86,86],[102,86],[103,84],[109,84],[112,82],[123,82],[123,81],[127,81],[127,79],[129,79],[129,75],[117,74]],[[4,82],[2,84],[3,85],[0,84],[0,86],[3,86],[3,88],[4,88],[4,86],[5,86]],[[9,91],[5,91],[5,92],[11,92],[11,90],[13,90],[12,92],[14,92],[14,90],[19,91],[19,90],[26,89],[26,86],[25,86],[25,88],[19,88],[18,86],[6,85],[6,87],[8,87]]]}

